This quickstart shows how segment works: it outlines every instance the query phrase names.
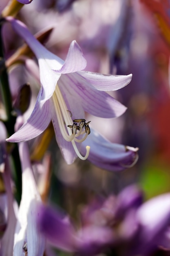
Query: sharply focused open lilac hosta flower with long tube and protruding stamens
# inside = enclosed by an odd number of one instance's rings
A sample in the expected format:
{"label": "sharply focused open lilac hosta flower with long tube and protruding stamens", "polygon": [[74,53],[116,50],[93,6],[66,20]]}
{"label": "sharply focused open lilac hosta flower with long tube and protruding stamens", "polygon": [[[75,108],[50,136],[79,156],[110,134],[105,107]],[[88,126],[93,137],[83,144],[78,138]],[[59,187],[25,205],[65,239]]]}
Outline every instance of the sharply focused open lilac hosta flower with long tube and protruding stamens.
{"label": "sharply focused open lilac hosta flower with long tube and protruding stamens", "polygon": [[79,45],[73,41],[65,62],[44,48],[26,26],[11,17],[13,29],[20,35],[38,58],[41,88],[34,110],[26,123],[7,141],[32,139],[42,133],[52,120],[56,140],[68,164],[78,155],[81,142],[90,133],[85,111],[97,117],[114,118],[122,115],[126,107],[105,91],[118,90],[130,83],[132,75],[113,76],[81,71],[86,60]]}

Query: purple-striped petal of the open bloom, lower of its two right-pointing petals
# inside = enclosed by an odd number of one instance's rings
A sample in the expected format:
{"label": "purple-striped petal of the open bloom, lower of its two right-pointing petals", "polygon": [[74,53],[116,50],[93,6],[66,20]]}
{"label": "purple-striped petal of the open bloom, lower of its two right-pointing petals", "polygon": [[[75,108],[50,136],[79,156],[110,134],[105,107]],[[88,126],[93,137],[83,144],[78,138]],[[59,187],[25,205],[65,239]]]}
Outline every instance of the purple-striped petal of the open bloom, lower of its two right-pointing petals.
{"label": "purple-striped petal of the open bloom, lower of its two right-pointing petals", "polygon": [[91,115],[104,118],[119,117],[126,111],[126,107],[111,97],[106,92],[97,91],[95,88],[79,82],[76,73],[61,75],[62,81],[70,94],[76,93],[82,100],[84,110]]}

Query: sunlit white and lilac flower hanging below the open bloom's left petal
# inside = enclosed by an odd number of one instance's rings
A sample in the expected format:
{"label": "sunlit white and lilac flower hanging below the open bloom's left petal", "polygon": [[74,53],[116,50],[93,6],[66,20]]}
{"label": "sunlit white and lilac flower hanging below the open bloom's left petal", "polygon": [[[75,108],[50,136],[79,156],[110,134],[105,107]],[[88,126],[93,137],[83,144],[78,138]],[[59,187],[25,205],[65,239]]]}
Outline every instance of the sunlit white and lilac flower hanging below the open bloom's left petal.
{"label": "sunlit white and lilac flower hanging below the open bloom's left petal", "polygon": [[[19,117],[20,118],[20,117]],[[17,119],[17,125],[20,119]],[[26,142],[19,143],[19,154],[22,167],[22,198],[15,227],[13,256],[42,256],[45,249],[45,238],[37,226],[39,212],[37,204],[41,202],[35,183],[29,149]]]}

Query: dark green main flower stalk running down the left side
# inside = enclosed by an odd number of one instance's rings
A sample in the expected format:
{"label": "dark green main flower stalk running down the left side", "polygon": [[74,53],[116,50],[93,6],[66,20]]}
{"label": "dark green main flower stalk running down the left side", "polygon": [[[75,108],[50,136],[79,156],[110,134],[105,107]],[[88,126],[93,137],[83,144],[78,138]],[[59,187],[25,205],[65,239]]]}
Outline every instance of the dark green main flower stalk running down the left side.
{"label": "dark green main flower stalk running down the left side", "polygon": [[[11,99],[11,92],[9,89],[9,81],[8,81],[8,74],[7,69],[4,65],[4,54],[3,54],[3,43],[2,43],[2,24],[0,24],[0,59],[2,60],[2,68],[0,68],[0,92],[2,95],[2,101],[4,103],[4,108],[6,111],[6,120],[4,124],[7,128],[8,135],[12,135],[14,133],[14,125],[15,125],[15,117],[11,114],[12,113],[12,99]],[[21,200],[21,193],[22,193],[22,176],[21,176],[21,164],[20,164],[20,157],[18,153],[18,146],[14,144],[12,153],[12,160],[13,160],[13,175],[15,180],[16,186],[16,200],[18,203]]]}

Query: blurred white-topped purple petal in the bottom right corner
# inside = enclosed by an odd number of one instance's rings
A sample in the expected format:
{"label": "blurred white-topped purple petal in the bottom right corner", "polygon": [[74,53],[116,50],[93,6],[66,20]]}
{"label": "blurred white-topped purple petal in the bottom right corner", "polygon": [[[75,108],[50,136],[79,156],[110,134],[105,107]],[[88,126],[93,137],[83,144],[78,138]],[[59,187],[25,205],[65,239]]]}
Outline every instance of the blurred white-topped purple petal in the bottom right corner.
{"label": "blurred white-topped purple petal in the bottom right corner", "polygon": [[[145,202],[136,213],[138,230],[131,242],[129,255],[143,254],[162,245],[170,226],[170,193]],[[164,245],[166,246],[166,244]],[[169,245],[168,248],[169,249]]]}

